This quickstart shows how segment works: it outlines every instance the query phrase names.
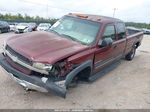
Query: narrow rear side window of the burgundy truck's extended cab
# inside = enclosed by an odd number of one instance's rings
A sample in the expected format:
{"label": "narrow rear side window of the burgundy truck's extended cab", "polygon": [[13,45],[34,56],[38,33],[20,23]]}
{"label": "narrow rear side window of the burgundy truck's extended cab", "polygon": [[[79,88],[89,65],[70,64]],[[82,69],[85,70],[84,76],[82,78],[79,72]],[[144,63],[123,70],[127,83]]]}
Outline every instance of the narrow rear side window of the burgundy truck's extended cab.
{"label": "narrow rear side window of the burgundy truck's extended cab", "polygon": [[123,23],[117,24],[118,40],[125,37],[125,25]]}

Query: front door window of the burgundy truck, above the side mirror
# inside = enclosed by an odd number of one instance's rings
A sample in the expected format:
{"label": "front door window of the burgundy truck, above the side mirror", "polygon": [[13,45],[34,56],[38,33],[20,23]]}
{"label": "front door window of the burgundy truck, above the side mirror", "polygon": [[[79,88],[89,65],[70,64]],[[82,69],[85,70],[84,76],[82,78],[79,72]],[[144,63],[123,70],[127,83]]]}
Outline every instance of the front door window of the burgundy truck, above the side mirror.
{"label": "front door window of the burgundy truck, above the side mirror", "polygon": [[115,40],[115,27],[114,27],[114,25],[109,25],[105,28],[102,39],[104,39],[104,38],[112,38],[112,40]]}

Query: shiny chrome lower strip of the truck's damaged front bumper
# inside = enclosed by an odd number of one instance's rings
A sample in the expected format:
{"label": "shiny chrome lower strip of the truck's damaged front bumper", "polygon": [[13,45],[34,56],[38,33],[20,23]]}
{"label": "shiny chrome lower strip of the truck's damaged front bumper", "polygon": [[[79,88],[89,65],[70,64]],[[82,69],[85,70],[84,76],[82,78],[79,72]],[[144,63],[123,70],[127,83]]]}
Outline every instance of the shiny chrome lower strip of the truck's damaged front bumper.
{"label": "shiny chrome lower strip of the truck's damaged front bumper", "polygon": [[40,91],[40,92],[48,92],[45,88],[42,88],[40,86],[37,86],[35,84],[32,84],[30,82],[27,82],[25,80],[21,80],[17,77],[15,77],[12,73],[8,73],[5,69],[3,69],[3,71],[8,75],[10,76],[10,78],[12,80],[14,80],[15,82],[17,82],[18,84],[20,84],[21,86],[23,86],[26,90],[37,90],[37,91]]}

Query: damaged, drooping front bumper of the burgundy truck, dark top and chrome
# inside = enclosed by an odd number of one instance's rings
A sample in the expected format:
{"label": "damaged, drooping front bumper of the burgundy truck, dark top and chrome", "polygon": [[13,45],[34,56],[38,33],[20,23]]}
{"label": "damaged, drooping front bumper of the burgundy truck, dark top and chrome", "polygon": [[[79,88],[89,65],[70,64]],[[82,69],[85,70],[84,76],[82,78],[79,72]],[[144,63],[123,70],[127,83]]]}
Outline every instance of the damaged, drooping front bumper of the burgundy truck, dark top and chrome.
{"label": "damaged, drooping front bumper of the burgundy truck, dark top and chrome", "polygon": [[26,75],[11,67],[9,63],[7,63],[3,54],[0,54],[0,65],[13,80],[15,80],[26,89],[33,89],[41,92],[53,92],[63,98],[66,97],[67,90],[65,86],[62,86],[65,81],[53,82],[50,79],[43,81],[42,79],[44,77]]}

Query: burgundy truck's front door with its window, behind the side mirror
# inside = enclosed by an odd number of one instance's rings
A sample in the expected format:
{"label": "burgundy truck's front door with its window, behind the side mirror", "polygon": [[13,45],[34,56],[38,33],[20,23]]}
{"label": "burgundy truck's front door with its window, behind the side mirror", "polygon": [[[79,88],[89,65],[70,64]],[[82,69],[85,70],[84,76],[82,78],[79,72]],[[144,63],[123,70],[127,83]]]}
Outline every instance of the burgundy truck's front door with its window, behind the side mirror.
{"label": "burgundy truck's front door with its window, behind the side mirror", "polygon": [[97,46],[97,50],[95,52],[95,60],[94,60],[94,72],[99,71],[103,67],[111,64],[115,59],[118,58],[116,48],[116,30],[114,24],[108,24],[105,29],[104,33],[99,41],[99,45],[103,41],[104,38],[112,38],[113,43],[111,46],[100,47]]}

